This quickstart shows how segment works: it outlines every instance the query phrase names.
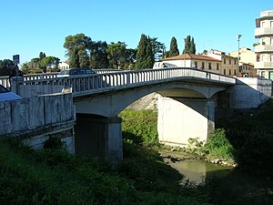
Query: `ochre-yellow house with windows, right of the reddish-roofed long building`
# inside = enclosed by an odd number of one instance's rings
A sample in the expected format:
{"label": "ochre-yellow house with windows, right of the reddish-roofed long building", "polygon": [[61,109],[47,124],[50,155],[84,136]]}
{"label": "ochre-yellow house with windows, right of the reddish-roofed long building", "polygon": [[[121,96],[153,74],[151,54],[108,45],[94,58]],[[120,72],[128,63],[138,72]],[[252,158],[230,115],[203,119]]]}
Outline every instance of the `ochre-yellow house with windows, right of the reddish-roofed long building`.
{"label": "ochre-yellow house with windows, right of the reddish-roofed long building", "polygon": [[214,57],[221,62],[219,74],[230,77],[238,76],[238,57],[228,56],[225,52],[213,49],[208,51],[205,56]]}

